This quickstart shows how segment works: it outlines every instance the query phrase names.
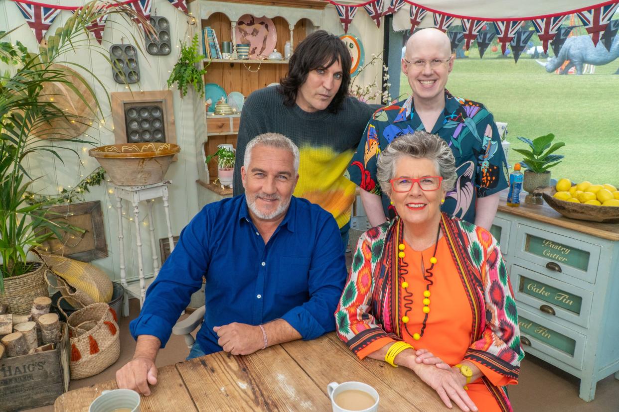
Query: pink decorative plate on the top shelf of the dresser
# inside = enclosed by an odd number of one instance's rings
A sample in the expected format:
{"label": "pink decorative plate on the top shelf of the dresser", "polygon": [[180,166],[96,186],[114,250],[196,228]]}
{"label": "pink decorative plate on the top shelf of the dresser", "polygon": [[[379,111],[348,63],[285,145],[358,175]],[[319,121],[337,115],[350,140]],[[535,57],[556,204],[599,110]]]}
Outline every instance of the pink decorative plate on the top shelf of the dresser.
{"label": "pink decorative plate on the top shelf of the dresser", "polygon": [[244,14],[236,22],[236,43],[249,43],[250,59],[266,59],[275,50],[277,31],[269,17]]}

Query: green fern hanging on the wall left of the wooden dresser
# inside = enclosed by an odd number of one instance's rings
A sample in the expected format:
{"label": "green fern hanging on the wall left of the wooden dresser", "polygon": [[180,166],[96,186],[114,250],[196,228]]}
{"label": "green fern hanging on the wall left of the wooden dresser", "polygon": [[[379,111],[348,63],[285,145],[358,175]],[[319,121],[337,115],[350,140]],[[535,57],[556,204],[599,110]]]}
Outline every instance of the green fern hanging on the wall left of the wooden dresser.
{"label": "green fern hanging on the wall left of the wooden dresser", "polygon": [[188,86],[193,85],[194,90],[202,97],[204,96],[204,80],[202,76],[206,74],[206,68],[197,69],[196,64],[201,65],[204,56],[197,53],[198,41],[197,35],[191,40],[191,46],[186,46],[181,43],[181,55],[178,57],[178,62],[172,69],[172,74],[168,78],[168,88],[176,83],[181,97],[187,94]]}

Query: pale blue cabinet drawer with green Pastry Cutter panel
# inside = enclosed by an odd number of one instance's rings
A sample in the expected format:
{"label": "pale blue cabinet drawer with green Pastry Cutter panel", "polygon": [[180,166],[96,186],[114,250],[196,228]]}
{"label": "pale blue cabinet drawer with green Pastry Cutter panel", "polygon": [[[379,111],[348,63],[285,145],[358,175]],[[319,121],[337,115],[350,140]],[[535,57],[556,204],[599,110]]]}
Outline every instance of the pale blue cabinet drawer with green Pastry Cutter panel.
{"label": "pale blue cabinet drawer with green Pastry Cutter panel", "polygon": [[571,276],[594,284],[600,246],[517,224],[514,255],[542,266],[539,272],[555,279],[569,282]]}

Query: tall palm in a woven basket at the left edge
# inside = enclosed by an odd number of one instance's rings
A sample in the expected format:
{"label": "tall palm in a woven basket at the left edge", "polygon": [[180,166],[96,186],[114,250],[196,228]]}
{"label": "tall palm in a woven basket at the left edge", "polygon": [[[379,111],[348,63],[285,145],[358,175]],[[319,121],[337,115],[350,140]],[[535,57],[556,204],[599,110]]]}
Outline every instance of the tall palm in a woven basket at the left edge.
{"label": "tall palm in a woven basket at the left edge", "polygon": [[[149,30],[148,21],[128,5],[107,7],[93,1],[78,9],[63,27],[48,36],[47,45],[40,46],[38,53],[28,53],[19,41],[15,45],[4,41],[10,32],[0,32],[0,60],[13,67],[12,72],[0,73],[0,303],[7,303],[15,314],[28,313],[33,298],[48,295],[45,267],[30,259],[29,252],[48,238],[62,238],[63,231],[78,230],[50,220],[57,215],[45,209],[57,204],[56,199],[35,196],[28,191],[37,177],[28,174],[25,159],[34,153],[50,153],[63,162],[63,157],[58,153],[62,146],[52,145],[51,142],[67,137],[67,130],[54,128],[54,120],[90,124],[102,118],[96,97],[95,103],[89,104],[73,84],[74,77],[54,63],[80,67],[105,90],[103,83],[92,72],[79,62],[68,61],[66,53],[84,48],[84,45],[91,47],[87,27],[106,14],[122,15],[128,22],[136,19]],[[83,77],[77,80],[95,96]],[[45,98],[43,88],[51,82],[61,83],[74,91],[86,104],[87,111],[67,114],[53,99]],[[41,140],[37,135],[51,138]],[[92,143],[79,139],[73,141]],[[76,153],[70,146],[67,149]]]}

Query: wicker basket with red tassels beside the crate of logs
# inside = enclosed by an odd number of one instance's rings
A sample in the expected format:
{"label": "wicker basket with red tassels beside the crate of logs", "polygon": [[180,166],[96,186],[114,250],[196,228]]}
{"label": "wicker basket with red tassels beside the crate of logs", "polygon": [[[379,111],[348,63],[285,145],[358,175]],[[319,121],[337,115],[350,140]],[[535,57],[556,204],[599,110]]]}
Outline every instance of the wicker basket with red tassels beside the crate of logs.
{"label": "wicker basket with red tassels beside the crate of logs", "polygon": [[102,372],[120,356],[116,314],[107,303],[93,303],[67,319],[71,335],[71,379]]}

